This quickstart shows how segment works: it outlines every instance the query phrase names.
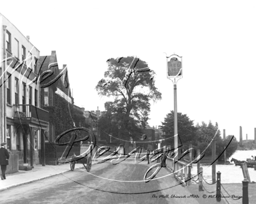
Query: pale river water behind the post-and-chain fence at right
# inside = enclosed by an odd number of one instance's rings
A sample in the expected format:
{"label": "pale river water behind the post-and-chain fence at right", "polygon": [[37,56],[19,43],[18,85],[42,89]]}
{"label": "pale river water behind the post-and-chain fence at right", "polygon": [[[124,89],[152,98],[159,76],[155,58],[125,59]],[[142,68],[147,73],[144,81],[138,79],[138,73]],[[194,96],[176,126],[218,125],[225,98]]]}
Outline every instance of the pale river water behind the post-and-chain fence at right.
{"label": "pale river water behind the post-and-chain fence at right", "polygon": [[[236,151],[230,158],[235,158],[240,161],[246,161],[247,158],[251,159],[251,156],[256,156],[256,150],[247,150],[247,151]],[[203,177],[208,183],[212,183],[212,166],[210,165],[201,165],[203,167]],[[216,165],[216,172],[221,172],[221,183],[242,183],[244,180],[243,172],[240,166],[235,166],[234,162],[232,165]],[[256,170],[254,168],[248,168],[251,181],[256,182]],[[191,170],[192,176],[197,174],[197,165],[193,164]],[[195,177],[194,180],[196,180]]]}

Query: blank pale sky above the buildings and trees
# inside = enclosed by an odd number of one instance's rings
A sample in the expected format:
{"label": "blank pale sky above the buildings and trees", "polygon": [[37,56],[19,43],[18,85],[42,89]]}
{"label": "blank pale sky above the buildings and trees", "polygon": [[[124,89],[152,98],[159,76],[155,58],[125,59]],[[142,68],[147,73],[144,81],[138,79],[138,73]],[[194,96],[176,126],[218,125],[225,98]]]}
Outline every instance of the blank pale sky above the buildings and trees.
{"label": "blank pale sky above the buildings and trees", "polygon": [[0,1],[40,55],[56,50],[67,64],[74,103],[104,111],[109,99],[95,86],[109,58],[136,56],[157,73],[162,100],[152,103],[150,126],[173,110],[166,54],[183,59],[177,111],[194,124],[218,122],[226,136],[254,139],[256,128],[256,12],[254,1]]}

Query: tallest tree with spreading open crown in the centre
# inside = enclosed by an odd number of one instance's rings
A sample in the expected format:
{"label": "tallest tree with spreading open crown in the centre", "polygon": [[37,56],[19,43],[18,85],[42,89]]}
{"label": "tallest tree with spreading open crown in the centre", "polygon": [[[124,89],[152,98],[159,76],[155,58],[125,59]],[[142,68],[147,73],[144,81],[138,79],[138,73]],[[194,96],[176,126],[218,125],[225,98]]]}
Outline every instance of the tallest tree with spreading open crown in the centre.
{"label": "tallest tree with spreading open crown in the centre", "polygon": [[[106,110],[113,112],[113,118],[120,127],[120,137],[129,140],[131,132],[138,125],[147,122],[150,100],[161,99],[161,93],[154,86],[155,72],[145,61],[137,57],[109,59],[104,79],[96,89],[100,96],[111,97],[105,104]],[[139,123],[139,124],[138,124]]]}

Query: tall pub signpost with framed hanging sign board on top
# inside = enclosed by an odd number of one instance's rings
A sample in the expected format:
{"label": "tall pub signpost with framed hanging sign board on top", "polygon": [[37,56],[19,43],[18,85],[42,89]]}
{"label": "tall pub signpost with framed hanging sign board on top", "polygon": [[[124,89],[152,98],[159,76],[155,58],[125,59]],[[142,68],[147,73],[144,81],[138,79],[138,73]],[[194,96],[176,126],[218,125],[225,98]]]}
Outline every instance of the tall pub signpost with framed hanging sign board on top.
{"label": "tall pub signpost with framed hanging sign board on top", "polygon": [[[168,61],[169,60],[169,61]],[[174,148],[178,148],[178,122],[177,122],[177,81],[182,79],[182,57],[177,54],[166,56],[167,78],[173,82],[173,93],[174,93]]]}

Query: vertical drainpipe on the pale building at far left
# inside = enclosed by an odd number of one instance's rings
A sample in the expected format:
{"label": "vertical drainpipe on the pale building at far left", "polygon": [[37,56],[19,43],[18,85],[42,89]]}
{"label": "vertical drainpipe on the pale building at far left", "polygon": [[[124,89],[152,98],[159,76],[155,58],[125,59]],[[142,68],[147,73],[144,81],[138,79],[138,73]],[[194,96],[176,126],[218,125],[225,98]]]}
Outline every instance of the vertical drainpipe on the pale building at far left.
{"label": "vertical drainpipe on the pale building at far left", "polygon": [[[5,67],[6,67],[6,48],[5,48],[5,36],[6,36],[6,25],[3,25],[3,69],[2,69],[2,73],[3,73],[3,78],[2,78],[2,82],[5,82],[6,79],[6,72],[5,72]],[[3,83],[2,86],[2,93],[3,93],[3,123],[2,123],[2,128],[3,128],[3,141],[6,142],[6,83]]]}

